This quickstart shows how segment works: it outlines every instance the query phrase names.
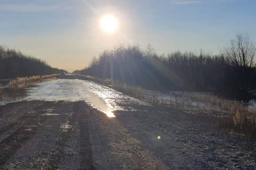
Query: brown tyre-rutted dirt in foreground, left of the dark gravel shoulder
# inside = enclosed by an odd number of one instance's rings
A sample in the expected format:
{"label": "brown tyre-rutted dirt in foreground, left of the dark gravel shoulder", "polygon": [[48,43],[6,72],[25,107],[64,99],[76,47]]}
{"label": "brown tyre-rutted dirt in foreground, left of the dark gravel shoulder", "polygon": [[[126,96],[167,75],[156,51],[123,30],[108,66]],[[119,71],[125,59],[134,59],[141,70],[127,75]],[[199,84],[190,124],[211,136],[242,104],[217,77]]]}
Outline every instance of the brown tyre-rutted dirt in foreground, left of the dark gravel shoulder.
{"label": "brown tyre-rutted dirt in foreground, left of the dark gravel shoulder", "polygon": [[11,103],[1,120],[4,169],[166,168],[114,118],[82,101]]}

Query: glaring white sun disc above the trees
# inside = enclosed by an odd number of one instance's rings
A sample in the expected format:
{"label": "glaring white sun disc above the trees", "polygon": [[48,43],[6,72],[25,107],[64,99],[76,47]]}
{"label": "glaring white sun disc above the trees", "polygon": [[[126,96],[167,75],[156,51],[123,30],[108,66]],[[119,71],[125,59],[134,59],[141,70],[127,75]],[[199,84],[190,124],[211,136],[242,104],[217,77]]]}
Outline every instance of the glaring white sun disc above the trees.
{"label": "glaring white sun disc above the trees", "polygon": [[118,27],[117,19],[113,15],[105,15],[100,20],[100,26],[106,32],[114,32]]}

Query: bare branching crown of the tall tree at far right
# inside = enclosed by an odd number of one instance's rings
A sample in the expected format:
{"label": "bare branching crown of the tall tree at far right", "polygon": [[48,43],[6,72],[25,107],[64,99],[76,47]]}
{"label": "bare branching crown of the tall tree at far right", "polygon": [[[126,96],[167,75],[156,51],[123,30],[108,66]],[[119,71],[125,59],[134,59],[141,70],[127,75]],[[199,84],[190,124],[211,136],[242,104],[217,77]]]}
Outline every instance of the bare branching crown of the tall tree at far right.
{"label": "bare branching crown of the tall tree at far right", "polygon": [[252,67],[256,47],[247,33],[237,33],[236,38],[231,39],[230,45],[221,50],[221,54],[225,62],[229,65],[236,67]]}

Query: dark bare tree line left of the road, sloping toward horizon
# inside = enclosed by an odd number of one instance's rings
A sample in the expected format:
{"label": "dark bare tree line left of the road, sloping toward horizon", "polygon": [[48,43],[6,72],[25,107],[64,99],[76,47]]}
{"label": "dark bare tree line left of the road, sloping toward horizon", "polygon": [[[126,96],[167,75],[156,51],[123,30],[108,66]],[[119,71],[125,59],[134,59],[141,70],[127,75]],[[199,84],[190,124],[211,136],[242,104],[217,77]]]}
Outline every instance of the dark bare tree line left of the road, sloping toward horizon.
{"label": "dark bare tree line left of the road, sloping toward horizon", "polygon": [[45,61],[20,51],[0,46],[0,79],[61,73]]}

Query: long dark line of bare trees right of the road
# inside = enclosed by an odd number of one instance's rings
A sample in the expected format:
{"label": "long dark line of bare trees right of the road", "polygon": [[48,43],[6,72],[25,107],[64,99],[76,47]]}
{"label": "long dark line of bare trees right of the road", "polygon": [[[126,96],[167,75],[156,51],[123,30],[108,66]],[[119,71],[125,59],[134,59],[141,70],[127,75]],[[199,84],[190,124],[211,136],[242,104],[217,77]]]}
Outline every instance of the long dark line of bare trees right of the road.
{"label": "long dark line of bare trees right of the road", "polygon": [[138,44],[118,44],[79,73],[151,90],[214,91],[244,99],[256,88],[255,51],[248,34],[242,33],[217,55],[202,50],[158,55],[150,44],[145,50]]}

